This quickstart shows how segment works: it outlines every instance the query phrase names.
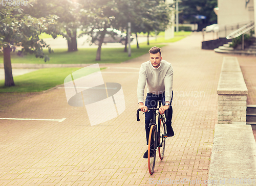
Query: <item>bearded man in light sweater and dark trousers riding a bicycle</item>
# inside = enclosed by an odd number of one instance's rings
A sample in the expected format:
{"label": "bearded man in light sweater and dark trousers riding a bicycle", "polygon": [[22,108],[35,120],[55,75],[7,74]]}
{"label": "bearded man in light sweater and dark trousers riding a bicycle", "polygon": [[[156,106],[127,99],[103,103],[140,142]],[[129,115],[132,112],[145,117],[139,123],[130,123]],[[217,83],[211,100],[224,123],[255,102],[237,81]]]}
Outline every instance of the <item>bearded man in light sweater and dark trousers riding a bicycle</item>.
{"label": "bearded man in light sweater and dark trousers riding a bicycle", "polygon": [[[141,111],[145,112],[145,130],[146,143],[148,145],[148,136],[150,134],[151,113],[147,108],[156,108],[158,100],[161,100],[163,106],[159,108],[159,113],[164,114],[168,110],[168,123],[166,122],[167,134],[165,137],[174,136],[172,128],[172,100],[173,100],[173,67],[170,63],[162,60],[161,48],[152,47],[149,51],[150,61],[142,63],[139,72],[137,96]],[[147,95],[145,104],[144,89],[147,84]],[[147,158],[147,151],[143,155]]]}

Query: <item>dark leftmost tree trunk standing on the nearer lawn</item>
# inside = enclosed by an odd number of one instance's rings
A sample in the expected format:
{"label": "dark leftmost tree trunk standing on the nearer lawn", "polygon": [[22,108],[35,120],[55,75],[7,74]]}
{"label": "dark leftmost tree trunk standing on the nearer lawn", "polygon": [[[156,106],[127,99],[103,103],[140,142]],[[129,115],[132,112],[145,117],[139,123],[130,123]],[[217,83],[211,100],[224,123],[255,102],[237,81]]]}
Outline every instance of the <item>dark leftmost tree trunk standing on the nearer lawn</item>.
{"label": "dark leftmost tree trunk standing on the nearer lawn", "polygon": [[12,64],[11,64],[11,47],[4,48],[4,68],[5,68],[5,86],[15,86],[12,76]]}

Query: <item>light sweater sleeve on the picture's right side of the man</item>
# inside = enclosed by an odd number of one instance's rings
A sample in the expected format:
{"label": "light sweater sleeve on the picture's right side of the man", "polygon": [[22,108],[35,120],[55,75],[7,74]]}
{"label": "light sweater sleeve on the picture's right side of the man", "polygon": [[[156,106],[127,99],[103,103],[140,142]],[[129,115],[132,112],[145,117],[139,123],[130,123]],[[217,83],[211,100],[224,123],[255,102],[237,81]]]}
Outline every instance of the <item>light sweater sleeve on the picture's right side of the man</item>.
{"label": "light sweater sleeve on the picture's right side of the man", "polygon": [[164,87],[165,87],[165,101],[172,99],[172,90],[173,90],[173,67],[170,65],[170,68],[167,70],[164,77]]}

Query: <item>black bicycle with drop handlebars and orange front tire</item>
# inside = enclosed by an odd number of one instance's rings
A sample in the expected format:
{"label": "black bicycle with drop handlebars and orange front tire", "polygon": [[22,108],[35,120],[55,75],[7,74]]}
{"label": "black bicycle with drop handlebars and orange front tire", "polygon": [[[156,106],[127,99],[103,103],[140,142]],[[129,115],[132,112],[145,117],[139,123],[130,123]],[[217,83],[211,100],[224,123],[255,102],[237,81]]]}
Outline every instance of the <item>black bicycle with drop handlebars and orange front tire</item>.
{"label": "black bicycle with drop handlebars and orange front tire", "polygon": [[[161,107],[161,101],[159,102],[159,108]],[[165,134],[166,134],[166,125],[165,125],[165,117],[161,115],[159,112],[159,108],[147,108],[148,111],[153,111],[153,117],[150,122],[150,136],[148,138],[148,150],[147,150],[147,164],[148,171],[150,174],[154,173],[155,162],[156,162],[156,151],[158,147],[158,154],[160,160],[163,159],[164,149],[165,149]],[[137,121],[139,119],[139,112],[141,110],[137,110]],[[156,123],[156,116],[158,115],[158,124]],[[168,110],[165,111],[165,116],[168,119]],[[166,120],[167,121],[167,120]],[[155,143],[156,142],[156,143]]]}

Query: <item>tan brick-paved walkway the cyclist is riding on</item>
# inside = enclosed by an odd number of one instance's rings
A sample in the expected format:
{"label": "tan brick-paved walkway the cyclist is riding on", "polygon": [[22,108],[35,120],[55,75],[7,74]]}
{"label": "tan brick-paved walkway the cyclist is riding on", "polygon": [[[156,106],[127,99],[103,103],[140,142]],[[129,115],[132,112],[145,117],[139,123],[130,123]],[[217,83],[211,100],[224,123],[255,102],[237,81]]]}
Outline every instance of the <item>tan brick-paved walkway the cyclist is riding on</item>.
{"label": "tan brick-paved walkway the cyclist is riding on", "polygon": [[[164,158],[157,158],[153,175],[142,157],[147,148],[144,115],[140,122],[135,115],[138,73],[134,72],[148,60],[147,54],[109,64],[102,71],[104,82],[121,84],[125,97],[125,111],[108,122],[91,126],[85,108],[68,105],[64,89],[30,96],[1,112],[0,117],[6,118],[67,119],[1,120],[0,185],[148,185],[166,178],[191,180],[179,185],[205,185],[224,55],[201,50],[201,40],[201,34],[194,33],[162,48],[163,59],[174,68],[176,135],[166,140]],[[112,71],[120,73],[104,73]]]}

